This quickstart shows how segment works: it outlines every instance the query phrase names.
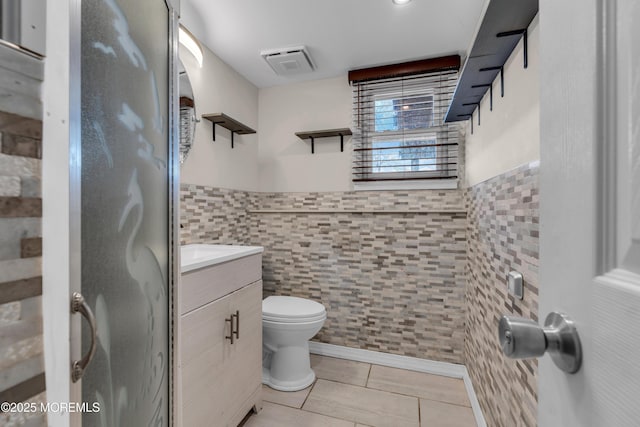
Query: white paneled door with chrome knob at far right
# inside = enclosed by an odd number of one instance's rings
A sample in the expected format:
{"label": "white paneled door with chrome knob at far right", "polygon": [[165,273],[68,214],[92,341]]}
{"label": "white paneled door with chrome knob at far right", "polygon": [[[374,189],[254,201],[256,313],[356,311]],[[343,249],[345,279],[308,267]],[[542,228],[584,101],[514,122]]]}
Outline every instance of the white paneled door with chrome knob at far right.
{"label": "white paneled door with chrome knob at far right", "polygon": [[540,318],[583,365],[539,362],[538,423],[640,425],[640,1],[540,2]]}

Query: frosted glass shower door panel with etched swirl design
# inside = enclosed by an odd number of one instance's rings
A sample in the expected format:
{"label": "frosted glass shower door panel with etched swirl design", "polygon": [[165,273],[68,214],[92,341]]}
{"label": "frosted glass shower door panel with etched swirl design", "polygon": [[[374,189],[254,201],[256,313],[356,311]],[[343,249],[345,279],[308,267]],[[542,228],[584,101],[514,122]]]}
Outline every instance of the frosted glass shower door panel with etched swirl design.
{"label": "frosted glass shower door panel with etched swirl design", "polygon": [[168,29],[164,0],[82,1],[84,426],[169,425]]}

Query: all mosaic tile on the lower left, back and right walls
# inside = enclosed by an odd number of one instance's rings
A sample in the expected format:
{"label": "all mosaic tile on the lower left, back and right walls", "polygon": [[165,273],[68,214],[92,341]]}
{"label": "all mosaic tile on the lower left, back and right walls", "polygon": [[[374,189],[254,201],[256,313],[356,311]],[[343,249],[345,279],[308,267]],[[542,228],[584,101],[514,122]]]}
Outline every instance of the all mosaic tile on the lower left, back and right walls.
{"label": "all mosaic tile on the lower left, back and right walls", "polygon": [[[488,425],[529,427],[537,364],[503,357],[496,328],[502,314],[538,319],[538,200],[535,163],[464,193],[183,185],[182,240],[264,246],[265,295],[327,307],[317,340],[465,363]],[[522,301],[506,292],[511,269]]]}

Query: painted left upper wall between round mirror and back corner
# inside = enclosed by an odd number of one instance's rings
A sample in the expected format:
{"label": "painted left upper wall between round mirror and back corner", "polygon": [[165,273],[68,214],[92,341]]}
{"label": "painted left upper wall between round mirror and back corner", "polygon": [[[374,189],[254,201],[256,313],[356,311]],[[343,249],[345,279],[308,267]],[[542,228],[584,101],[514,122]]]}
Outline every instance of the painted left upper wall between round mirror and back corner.
{"label": "painted left upper wall between round mirror and back corner", "polygon": [[[180,59],[193,88],[196,116],[225,113],[259,131],[258,89],[202,46],[202,68],[184,47]],[[212,123],[196,124],[195,140],[180,170],[180,182],[236,190],[258,189],[258,134],[236,135],[231,148],[227,129],[216,126],[212,140]]]}

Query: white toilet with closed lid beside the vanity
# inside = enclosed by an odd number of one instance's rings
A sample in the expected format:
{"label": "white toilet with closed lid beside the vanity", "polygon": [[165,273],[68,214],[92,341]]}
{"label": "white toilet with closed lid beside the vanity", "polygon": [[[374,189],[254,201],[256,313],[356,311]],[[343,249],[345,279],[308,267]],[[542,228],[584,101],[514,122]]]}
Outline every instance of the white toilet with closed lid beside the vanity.
{"label": "white toilet with closed lid beside the vanity", "polygon": [[322,328],[327,311],[304,298],[271,296],[262,301],[262,383],[297,391],[316,379],[309,340]]}

